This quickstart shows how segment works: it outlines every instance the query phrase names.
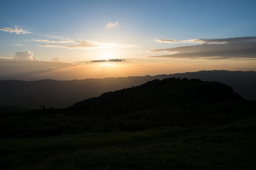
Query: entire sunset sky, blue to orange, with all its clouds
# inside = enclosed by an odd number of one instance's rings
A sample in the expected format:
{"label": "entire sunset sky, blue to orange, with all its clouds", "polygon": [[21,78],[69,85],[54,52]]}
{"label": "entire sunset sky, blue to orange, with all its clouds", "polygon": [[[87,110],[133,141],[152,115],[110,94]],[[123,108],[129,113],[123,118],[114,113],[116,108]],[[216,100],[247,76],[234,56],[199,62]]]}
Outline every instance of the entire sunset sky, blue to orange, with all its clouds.
{"label": "entire sunset sky, blue to orange, with all its clouds", "polygon": [[0,79],[256,71],[256,1],[1,1]]}

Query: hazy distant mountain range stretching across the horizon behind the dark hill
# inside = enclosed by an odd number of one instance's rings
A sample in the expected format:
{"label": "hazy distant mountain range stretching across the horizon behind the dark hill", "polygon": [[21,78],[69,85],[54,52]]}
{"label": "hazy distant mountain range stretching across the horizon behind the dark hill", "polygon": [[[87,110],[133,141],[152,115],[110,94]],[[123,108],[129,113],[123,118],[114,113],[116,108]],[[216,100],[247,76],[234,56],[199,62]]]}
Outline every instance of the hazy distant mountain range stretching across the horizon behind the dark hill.
{"label": "hazy distant mountain range stretching across the horizon behind the dark hill", "polygon": [[[65,108],[78,101],[100,96],[107,91],[116,91],[139,86],[154,79],[180,77],[218,81],[231,86],[235,92],[247,100],[256,101],[256,72],[230,72],[225,70],[163,74],[145,77],[118,77],[105,79],[83,79],[57,81],[51,79],[39,81],[0,81],[0,106],[4,110],[25,108]],[[24,108],[25,107],[25,108]]]}

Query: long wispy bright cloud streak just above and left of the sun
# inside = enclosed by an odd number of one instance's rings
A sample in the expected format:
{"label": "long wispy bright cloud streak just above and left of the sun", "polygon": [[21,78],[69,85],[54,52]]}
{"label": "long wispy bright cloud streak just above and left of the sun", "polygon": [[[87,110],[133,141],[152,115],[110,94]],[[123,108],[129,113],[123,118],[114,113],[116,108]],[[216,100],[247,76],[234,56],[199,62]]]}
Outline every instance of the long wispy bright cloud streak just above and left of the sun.
{"label": "long wispy bright cloud streak just above and left of the sun", "polygon": [[[56,40],[35,40],[35,41],[48,43],[48,44],[39,45],[41,47],[60,47],[60,48],[69,48],[69,49],[95,49],[95,48],[134,47],[135,46],[135,45],[97,42],[97,41],[91,41],[91,40],[75,41],[75,40],[64,39],[60,41],[56,41]],[[60,43],[63,43],[63,44],[66,43],[66,44],[60,45]]]}

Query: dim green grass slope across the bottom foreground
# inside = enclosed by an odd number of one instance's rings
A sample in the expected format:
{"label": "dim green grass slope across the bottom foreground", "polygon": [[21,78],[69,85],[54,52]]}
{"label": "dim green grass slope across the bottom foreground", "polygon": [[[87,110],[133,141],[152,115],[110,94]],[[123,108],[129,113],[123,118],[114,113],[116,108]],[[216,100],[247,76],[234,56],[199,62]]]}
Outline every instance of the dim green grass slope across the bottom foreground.
{"label": "dim green grass slope across the bottom foreground", "polygon": [[0,169],[256,169],[256,117],[230,125],[0,140]]}

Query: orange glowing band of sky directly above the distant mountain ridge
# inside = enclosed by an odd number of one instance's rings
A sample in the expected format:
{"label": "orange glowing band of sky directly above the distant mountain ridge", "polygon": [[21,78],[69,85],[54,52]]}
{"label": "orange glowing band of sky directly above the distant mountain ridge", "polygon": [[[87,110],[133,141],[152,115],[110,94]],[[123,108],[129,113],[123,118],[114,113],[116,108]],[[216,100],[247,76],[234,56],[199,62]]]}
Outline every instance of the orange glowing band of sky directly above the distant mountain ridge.
{"label": "orange glowing band of sky directly above the distant mountain ridge", "polygon": [[[160,62],[161,61],[161,62]],[[122,62],[0,62],[0,77],[11,79],[101,79],[154,76],[201,70],[256,71],[255,60],[122,60]],[[12,68],[16,69],[12,69]],[[29,73],[29,74],[28,74]],[[15,77],[18,75],[18,77]],[[24,75],[24,76],[23,76]]]}

